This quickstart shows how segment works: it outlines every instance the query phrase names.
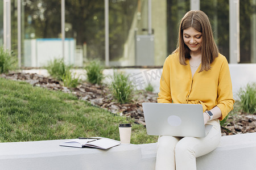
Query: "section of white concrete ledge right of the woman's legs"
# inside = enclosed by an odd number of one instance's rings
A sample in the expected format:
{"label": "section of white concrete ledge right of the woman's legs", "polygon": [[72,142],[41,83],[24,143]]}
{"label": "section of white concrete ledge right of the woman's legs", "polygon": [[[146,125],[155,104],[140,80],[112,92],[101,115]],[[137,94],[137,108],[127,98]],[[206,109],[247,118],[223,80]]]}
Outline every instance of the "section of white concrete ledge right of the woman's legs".
{"label": "section of white concrete ledge right of the woman's legs", "polygon": [[220,146],[196,159],[197,169],[256,169],[256,133],[221,137]]}

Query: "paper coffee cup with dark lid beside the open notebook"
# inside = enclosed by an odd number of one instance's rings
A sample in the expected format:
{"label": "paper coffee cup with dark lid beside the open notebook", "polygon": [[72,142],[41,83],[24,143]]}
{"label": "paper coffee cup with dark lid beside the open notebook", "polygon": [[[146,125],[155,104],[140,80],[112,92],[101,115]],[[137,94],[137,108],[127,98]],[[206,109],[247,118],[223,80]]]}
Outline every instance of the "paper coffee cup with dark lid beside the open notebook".
{"label": "paper coffee cup with dark lid beside the open notebook", "polygon": [[123,145],[130,144],[131,141],[131,124],[119,124],[120,142]]}

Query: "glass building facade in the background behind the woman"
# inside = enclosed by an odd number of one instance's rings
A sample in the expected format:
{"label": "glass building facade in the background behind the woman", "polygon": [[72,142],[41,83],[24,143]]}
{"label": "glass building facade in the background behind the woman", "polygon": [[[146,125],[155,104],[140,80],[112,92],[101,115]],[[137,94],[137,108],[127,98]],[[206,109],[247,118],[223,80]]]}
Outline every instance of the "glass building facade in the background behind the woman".
{"label": "glass building facade in the background behind the woman", "polygon": [[[214,39],[228,61],[232,57],[230,20],[234,17],[230,16],[230,1],[196,1],[200,10],[209,16]],[[65,2],[64,35],[61,2]],[[65,62],[79,67],[91,59],[105,63],[106,48],[109,49],[109,66],[161,66],[176,48],[179,21],[191,10],[192,0],[108,2],[107,47],[104,0],[0,1],[0,45],[5,42],[4,23],[10,9],[10,48],[19,54],[22,67],[43,67],[54,58],[64,58]],[[256,63],[256,0],[237,2],[240,2],[238,63]],[[6,9],[5,3],[9,3],[10,8]]]}

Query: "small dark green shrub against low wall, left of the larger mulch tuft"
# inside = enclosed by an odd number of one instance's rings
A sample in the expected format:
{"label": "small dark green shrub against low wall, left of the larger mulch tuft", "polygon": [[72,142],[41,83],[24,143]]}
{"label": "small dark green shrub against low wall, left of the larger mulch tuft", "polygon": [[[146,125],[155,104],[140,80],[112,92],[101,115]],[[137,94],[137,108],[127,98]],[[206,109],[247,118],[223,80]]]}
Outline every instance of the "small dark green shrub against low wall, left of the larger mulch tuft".
{"label": "small dark green shrub against low wall, left of the larger mulch tuft", "polygon": [[86,66],[86,75],[88,82],[92,84],[101,84],[104,79],[103,70],[104,66],[101,65],[100,61],[90,61]]}

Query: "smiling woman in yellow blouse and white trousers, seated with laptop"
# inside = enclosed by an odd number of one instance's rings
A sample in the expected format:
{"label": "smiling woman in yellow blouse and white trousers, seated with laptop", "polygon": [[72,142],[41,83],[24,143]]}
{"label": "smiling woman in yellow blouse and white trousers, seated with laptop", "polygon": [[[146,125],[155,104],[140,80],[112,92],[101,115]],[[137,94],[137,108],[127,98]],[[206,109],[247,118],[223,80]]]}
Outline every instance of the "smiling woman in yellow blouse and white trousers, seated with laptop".
{"label": "smiling woman in yellow blouse and white trousers, seated with laptop", "polygon": [[156,156],[156,169],[196,169],[196,157],[218,146],[220,120],[234,104],[228,61],[218,53],[203,11],[189,11],[181,19],[177,49],[164,62],[158,103],[203,105],[204,123],[213,125],[208,135],[160,136]]}

